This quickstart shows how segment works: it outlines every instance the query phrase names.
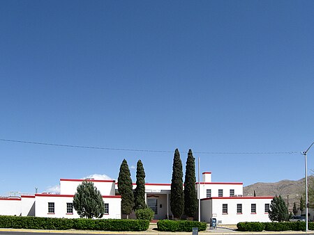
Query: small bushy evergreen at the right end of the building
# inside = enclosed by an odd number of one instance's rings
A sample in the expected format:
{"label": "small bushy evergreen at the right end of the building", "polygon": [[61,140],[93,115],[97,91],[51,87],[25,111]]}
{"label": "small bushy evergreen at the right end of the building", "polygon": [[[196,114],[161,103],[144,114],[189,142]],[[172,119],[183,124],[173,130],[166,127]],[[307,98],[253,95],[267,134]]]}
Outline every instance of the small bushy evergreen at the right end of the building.
{"label": "small bushy evergreen at the right end of the building", "polygon": [[281,195],[274,197],[269,207],[268,216],[271,221],[283,222],[288,220],[287,206]]}

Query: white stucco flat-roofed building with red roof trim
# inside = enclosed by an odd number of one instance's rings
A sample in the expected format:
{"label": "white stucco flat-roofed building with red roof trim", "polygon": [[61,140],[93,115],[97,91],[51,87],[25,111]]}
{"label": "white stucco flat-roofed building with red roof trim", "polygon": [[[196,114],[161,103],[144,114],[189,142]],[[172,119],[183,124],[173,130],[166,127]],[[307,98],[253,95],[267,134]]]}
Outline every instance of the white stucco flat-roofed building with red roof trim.
{"label": "white stucco flat-roofed building with red roof trim", "polygon": [[[60,194],[38,193],[21,197],[0,197],[0,214],[10,216],[38,216],[78,218],[73,208],[76,188],[85,179],[60,179]],[[92,181],[103,195],[103,218],[121,218],[121,196],[114,180]],[[135,188],[136,184],[133,184]],[[211,172],[202,174],[200,185],[201,220],[216,218],[219,223],[236,224],[244,221],[267,222],[269,204],[273,197],[245,197],[243,183],[212,182]],[[154,219],[172,218],[170,208],[171,184],[145,184],[147,205],[155,212]],[[134,216],[131,215],[131,217]]]}

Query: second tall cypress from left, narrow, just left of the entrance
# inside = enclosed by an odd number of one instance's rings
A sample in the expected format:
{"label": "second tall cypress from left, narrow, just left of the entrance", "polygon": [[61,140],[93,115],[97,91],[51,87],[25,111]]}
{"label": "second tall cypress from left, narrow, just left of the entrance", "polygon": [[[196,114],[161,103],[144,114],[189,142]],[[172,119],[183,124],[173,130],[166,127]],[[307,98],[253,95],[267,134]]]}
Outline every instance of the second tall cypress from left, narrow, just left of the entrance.
{"label": "second tall cypress from left, narrow, just left of the entrance", "polygon": [[136,165],[136,188],[134,191],[134,209],[145,209],[145,172],[142,161]]}

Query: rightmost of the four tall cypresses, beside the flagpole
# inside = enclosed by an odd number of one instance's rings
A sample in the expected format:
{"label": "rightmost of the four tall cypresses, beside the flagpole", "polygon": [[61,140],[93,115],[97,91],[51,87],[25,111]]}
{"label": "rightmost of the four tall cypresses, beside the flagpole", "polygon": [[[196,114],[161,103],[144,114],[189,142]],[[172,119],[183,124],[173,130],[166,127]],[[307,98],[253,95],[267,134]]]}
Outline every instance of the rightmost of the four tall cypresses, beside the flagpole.
{"label": "rightmost of the four tall cypresses, beside the flagpole", "polygon": [[188,159],[186,159],[186,177],[184,179],[184,213],[193,218],[197,210],[196,195],[196,177],[195,177],[195,159],[192,150],[188,150]]}

